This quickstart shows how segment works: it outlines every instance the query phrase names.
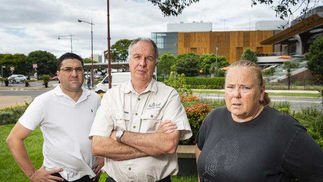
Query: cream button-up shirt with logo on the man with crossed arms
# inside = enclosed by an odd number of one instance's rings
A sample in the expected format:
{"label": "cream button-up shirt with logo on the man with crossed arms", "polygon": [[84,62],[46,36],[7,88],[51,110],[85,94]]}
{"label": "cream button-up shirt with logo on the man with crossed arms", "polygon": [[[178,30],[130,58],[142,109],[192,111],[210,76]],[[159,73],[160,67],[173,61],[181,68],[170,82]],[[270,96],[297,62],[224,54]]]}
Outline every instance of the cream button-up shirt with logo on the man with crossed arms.
{"label": "cream button-up shirt with logo on the man with crossed arms", "polygon": [[[109,137],[112,130],[156,133],[164,120],[176,123],[180,140],[192,136],[191,128],[176,90],[152,80],[138,94],[127,83],[109,89],[103,96],[89,136]],[[117,182],[155,182],[178,172],[177,156],[147,156],[114,161],[105,158],[103,171]]]}

